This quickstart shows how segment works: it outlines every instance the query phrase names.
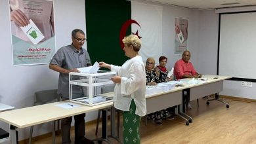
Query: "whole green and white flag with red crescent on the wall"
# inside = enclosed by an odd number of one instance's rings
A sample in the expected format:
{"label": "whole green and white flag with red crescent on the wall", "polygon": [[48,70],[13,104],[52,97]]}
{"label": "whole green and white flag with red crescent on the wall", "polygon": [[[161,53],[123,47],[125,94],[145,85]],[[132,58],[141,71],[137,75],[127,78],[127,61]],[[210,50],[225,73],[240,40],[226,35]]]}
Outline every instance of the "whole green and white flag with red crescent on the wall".
{"label": "whole green and white flag with red crescent on the wall", "polygon": [[123,52],[123,37],[138,35],[142,41],[139,54],[145,62],[162,55],[161,6],[135,1],[85,1],[87,50],[92,62],[122,65],[128,58]]}

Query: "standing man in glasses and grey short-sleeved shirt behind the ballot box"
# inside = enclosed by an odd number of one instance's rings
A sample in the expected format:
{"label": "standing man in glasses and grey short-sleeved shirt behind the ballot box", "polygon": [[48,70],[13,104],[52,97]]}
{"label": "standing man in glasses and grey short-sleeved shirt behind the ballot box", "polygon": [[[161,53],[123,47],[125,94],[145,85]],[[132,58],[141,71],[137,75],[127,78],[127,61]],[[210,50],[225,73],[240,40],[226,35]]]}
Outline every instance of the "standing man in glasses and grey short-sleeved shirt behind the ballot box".
{"label": "standing man in glasses and grey short-sleeved shirt behind the ballot box", "polygon": [[[49,68],[60,73],[58,79],[58,94],[62,96],[62,100],[70,98],[68,73],[79,71],[76,68],[87,67],[91,65],[90,56],[82,48],[85,42],[85,33],[81,29],[72,31],[72,44],[60,48],[49,64]],[[77,97],[83,96],[83,90],[77,88],[74,90]],[[85,138],[85,113],[75,115],[75,143],[93,143],[93,141]],[[62,143],[71,143],[70,127],[72,117],[63,118],[61,120]]]}

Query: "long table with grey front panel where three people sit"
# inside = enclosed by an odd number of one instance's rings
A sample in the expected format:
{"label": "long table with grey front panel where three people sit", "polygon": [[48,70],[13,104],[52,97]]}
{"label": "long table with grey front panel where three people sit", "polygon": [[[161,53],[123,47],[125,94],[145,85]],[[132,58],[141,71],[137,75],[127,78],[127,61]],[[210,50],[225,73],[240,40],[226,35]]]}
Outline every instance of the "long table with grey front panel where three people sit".
{"label": "long table with grey front panel where three people sit", "polygon": [[[203,75],[202,78],[204,81],[196,79],[196,82],[198,82],[196,84],[189,84],[189,81],[192,79],[182,79],[184,82],[182,86],[175,87],[172,90],[160,92],[158,94],[146,96],[147,114],[178,105],[176,115],[186,120],[186,125],[189,125],[189,122],[192,122],[192,117],[189,117],[184,113],[185,96],[182,91],[186,90],[186,96],[188,96],[190,100],[202,98],[209,94],[221,92],[223,90],[223,81],[230,79],[231,77]],[[207,101],[207,104],[209,104],[209,101]],[[226,103],[226,105],[228,104]],[[229,107],[229,105],[227,107]]]}

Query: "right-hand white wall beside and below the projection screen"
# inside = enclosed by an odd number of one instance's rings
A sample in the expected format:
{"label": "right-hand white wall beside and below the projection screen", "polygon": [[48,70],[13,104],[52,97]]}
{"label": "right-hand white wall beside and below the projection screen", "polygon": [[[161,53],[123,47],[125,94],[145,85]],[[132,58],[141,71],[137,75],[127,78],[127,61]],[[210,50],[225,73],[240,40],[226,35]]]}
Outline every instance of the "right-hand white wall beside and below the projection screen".
{"label": "right-hand white wall beside and below the projection screen", "polygon": [[[214,10],[200,12],[200,53],[199,71],[203,74],[217,74],[219,14]],[[246,71],[245,71],[246,73]],[[220,94],[239,98],[256,99],[256,83],[253,87],[242,87],[241,81],[224,81],[224,90]]]}

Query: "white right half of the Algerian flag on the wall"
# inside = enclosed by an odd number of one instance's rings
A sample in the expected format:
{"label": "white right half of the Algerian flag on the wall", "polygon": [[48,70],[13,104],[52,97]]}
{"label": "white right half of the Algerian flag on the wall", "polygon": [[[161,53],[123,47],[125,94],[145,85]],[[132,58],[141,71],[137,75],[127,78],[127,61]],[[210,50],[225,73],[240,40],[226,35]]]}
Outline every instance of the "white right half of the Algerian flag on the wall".
{"label": "white right half of the Algerian flag on the wall", "polygon": [[163,7],[148,5],[131,1],[131,19],[137,24],[133,24],[131,31],[141,37],[142,48],[139,53],[143,61],[147,58],[154,58],[156,63],[162,55],[162,14]]}

